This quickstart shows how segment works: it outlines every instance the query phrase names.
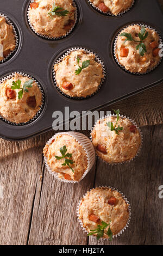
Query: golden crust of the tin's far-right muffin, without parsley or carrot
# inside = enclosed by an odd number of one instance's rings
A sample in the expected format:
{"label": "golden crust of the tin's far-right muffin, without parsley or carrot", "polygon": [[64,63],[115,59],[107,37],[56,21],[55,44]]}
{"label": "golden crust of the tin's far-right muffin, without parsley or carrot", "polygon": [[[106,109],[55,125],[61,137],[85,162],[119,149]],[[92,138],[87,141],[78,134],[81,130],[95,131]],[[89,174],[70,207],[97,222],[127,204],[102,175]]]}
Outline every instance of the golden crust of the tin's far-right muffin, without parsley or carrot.
{"label": "golden crust of the tin's far-right muffin, without parsley or carrot", "polygon": [[[129,26],[123,29],[121,33],[130,33],[134,40],[140,41],[138,34],[140,33],[141,28],[142,27],[139,25]],[[159,35],[149,28],[146,28],[146,31],[148,32],[148,37],[143,42],[146,45],[147,52],[143,57],[140,56],[139,50],[136,50],[136,46],[138,45],[137,42],[126,41],[124,43],[126,37],[118,36],[116,44],[116,57],[118,62],[130,72],[145,73],[148,70],[151,70],[160,61],[159,55],[153,56],[153,48],[150,47],[150,43],[153,41],[157,42],[159,46]],[[123,47],[129,50],[127,57],[121,57],[121,50]]]}

